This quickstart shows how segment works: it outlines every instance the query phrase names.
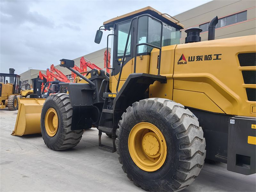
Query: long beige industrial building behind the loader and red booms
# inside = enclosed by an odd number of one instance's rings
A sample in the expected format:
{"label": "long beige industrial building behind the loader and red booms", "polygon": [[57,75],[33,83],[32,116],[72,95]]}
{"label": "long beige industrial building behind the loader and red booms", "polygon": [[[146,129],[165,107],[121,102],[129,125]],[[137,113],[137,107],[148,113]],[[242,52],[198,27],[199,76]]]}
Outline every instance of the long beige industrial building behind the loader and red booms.
{"label": "long beige industrial building behind the loader and red booms", "polygon": [[[180,30],[180,43],[185,43],[185,38],[187,36],[185,30],[191,27],[201,28],[203,30],[200,33],[201,41],[207,40],[208,25],[215,16],[218,16],[219,18],[219,22],[215,29],[215,39],[256,34],[256,1],[214,0],[174,16],[184,25],[184,29]],[[84,58],[100,68],[104,68],[105,50],[106,48],[86,54],[84,55]],[[80,66],[81,57],[82,56],[74,59],[77,66]],[[72,81],[70,70],[62,68],[60,65],[56,65],[56,68]],[[24,83],[32,84],[32,79],[38,76],[39,71],[40,70],[30,69],[20,74],[20,78]],[[41,71],[46,73],[45,70]]]}

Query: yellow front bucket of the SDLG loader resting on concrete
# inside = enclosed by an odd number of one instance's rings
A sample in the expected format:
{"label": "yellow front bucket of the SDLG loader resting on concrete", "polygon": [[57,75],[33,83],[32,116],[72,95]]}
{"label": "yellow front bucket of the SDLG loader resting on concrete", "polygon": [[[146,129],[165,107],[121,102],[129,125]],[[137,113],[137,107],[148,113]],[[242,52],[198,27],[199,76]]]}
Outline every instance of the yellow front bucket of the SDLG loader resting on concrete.
{"label": "yellow front bucket of the SDLG loader resting on concrete", "polygon": [[19,110],[12,135],[41,133],[41,111],[46,99],[18,98]]}

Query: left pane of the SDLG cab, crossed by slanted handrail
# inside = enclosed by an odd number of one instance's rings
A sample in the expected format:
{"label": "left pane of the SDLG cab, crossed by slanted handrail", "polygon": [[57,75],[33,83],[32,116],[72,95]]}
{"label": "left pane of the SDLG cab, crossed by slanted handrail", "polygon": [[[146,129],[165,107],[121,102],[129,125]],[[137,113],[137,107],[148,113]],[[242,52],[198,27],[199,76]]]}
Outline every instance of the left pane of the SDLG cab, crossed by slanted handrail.
{"label": "left pane of the SDLG cab, crossed by slanted handrail", "polygon": [[[127,41],[127,36],[129,32],[130,21],[117,24],[117,57],[123,57],[124,48]],[[129,36],[129,41],[127,44],[127,50],[125,56],[131,55],[131,34]]]}

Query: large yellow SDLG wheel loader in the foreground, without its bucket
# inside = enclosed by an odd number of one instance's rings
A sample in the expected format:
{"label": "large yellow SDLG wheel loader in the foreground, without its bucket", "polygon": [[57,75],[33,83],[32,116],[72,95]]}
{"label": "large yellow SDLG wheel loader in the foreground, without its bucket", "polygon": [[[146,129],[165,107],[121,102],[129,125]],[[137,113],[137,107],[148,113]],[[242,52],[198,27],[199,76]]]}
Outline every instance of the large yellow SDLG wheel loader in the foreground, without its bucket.
{"label": "large yellow SDLG wheel loader in the foreground, without its bucket", "polygon": [[255,173],[256,36],[214,40],[217,22],[209,24],[208,41],[201,42],[202,29],[188,28],[185,44],[183,25],[151,7],[104,22],[94,41],[112,31],[110,76],[93,69],[86,78],[73,60],[60,60],[84,83],[61,83],[68,94],[45,100],[46,146],[75,147],[94,125],[99,148],[117,151],[127,177],[149,191],[186,188],[205,158]]}

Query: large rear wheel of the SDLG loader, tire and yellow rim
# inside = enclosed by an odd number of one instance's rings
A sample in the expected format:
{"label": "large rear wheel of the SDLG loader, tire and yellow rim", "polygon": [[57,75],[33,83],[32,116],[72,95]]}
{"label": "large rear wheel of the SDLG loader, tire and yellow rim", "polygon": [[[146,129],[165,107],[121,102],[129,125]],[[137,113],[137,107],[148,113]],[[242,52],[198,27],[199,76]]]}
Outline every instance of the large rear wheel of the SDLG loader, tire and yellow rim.
{"label": "large rear wheel of the SDLG loader, tire and yellow rim", "polygon": [[183,105],[162,98],[140,100],[126,109],[118,125],[119,161],[138,187],[180,191],[201,171],[206,154],[203,130]]}

